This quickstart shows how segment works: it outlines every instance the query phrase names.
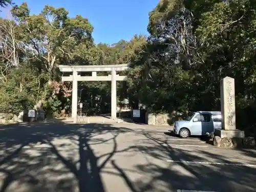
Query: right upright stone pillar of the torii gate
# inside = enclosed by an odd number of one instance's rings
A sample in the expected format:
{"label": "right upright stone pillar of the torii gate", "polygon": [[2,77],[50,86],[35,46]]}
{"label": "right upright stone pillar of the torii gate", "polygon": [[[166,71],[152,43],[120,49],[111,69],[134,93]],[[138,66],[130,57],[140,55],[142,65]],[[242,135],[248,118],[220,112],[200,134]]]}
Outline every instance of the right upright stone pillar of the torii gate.
{"label": "right upright stone pillar of the torii gate", "polygon": [[111,72],[111,119],[116,120],[116,71]]}

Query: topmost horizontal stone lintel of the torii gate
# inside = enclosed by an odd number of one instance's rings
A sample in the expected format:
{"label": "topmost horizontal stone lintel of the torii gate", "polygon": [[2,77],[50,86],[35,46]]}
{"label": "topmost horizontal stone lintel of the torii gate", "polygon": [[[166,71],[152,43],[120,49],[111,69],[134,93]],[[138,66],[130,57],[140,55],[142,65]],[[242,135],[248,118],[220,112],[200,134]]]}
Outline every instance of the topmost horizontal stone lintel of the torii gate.
{"label": "topmost horizontal stone lintel of the torii gate", "polygon": [[95,66],[66,66],[58,65],[61,72],[97,72],[97,71],[124,71],[129,68],[129,64],[120,65],[95,65]]}

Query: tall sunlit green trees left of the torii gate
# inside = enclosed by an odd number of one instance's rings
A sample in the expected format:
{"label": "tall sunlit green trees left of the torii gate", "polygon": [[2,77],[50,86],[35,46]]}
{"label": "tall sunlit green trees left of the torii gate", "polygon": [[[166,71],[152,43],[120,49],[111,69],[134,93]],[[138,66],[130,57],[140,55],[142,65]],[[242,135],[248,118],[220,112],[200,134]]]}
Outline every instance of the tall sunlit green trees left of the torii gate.
{"label": "tall sunlit green trees left of the torii gate", "polygon": [[[4,45],[0,54],[0,111],[18,115],[43,100],[56,115],[69,105],[71,91],[71,86],[56,83],[60,79],[56,65],[99,61],[101,52],[93,44],[93,27],[87,18],[69,17],[61,7],[46,5],[40,14],[31,15],[23,3],[13,6],[11,12],[15,23],[8,19],[0,22],[5,34],[0,39]],[[16,57],[11,57],[14,53]]]}

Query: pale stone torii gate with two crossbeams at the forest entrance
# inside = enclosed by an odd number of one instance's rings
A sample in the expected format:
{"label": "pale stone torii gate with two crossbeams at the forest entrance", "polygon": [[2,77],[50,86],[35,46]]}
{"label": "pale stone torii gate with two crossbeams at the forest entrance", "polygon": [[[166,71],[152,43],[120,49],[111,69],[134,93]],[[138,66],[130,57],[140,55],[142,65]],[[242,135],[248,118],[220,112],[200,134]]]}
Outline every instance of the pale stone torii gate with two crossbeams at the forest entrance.
{"label": "pale stone torii gate with two crossbeams at the forest entrance", "polygon": [[[117,71],[124,71],[129,64],[102,66],[64,66],[58,65],[61,72],[72,72],[70,76],[62,76],[62,81],[72,81],[72,118],[77,119],[77,81],[111,81],[111,118],[116,120],[116,81],[126,80],[126,76],[119,76]],[[97,72],[111,71],[111,75],[97,76]],[[92,76],[81,76],[78,72],[92,72]]]}

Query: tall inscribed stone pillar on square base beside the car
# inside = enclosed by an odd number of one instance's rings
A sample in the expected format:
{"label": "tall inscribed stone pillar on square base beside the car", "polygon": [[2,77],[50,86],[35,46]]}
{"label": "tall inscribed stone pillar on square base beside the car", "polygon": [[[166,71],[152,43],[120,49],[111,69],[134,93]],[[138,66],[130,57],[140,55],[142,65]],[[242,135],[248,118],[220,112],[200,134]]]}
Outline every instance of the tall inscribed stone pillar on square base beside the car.
{"label": "tall inscribed stone pillar on square base beside the car", "polygon": [[221,79],[221,116],[222,129],[216,129],[215,135],[224,138],[244,138],[244,131],[236,129],[236,102],[234,95],[234,79]]}

